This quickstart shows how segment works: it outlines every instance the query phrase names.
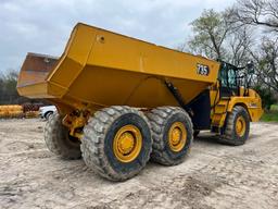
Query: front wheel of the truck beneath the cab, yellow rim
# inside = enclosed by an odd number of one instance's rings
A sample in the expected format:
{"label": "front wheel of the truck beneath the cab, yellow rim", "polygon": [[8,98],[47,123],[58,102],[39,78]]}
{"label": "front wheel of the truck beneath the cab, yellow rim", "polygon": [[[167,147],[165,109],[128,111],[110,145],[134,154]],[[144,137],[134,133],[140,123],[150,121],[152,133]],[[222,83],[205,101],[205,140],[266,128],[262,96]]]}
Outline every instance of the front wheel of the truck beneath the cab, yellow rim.
{"label": "front wheel of the truck beneath the cab, yellow rim", "polygon": [[224,134],[219,136],[219,143],[227,145],[243,145],[250,132],[250,116],[245,108],[236,106],[227,115]]}

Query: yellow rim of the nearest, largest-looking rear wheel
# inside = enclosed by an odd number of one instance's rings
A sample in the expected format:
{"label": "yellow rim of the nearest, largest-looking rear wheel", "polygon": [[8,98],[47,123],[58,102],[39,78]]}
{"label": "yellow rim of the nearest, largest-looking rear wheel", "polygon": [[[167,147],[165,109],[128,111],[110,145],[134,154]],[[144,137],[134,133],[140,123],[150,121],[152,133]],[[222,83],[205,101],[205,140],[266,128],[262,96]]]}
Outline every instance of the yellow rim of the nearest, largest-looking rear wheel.
{"label": "yellow rim of the nearest, largest-looking rear wheel", "polygon": [[142,148],[142,135],[135,125],[121,127],[113,142],[113,151],[121,162],[131,162],[135,160]]}

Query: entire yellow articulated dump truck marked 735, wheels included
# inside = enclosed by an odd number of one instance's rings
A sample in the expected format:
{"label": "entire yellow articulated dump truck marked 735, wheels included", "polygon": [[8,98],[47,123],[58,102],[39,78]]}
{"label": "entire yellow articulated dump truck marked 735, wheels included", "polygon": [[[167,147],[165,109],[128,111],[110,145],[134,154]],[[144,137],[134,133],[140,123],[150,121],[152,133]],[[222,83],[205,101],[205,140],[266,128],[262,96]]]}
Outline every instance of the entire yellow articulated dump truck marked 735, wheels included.
{"label": "entire yellow articulated dump truck marked 735, wheels included", "polygon": [[52,152],[124,181],[150,158],[182,162],[202,130],[244,144],[263,113],[251,69],[79,23],[61,58],[27,54],[17,90],[56,106],[45,128]]}

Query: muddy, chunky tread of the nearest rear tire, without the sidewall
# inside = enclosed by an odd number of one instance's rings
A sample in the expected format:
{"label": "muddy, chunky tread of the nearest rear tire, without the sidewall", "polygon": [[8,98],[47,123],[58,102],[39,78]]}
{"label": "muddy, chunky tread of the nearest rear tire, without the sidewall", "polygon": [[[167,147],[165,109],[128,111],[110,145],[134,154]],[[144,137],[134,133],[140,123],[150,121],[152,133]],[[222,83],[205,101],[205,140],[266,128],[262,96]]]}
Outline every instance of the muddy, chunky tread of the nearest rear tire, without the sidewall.
{"label": "muddy, chunky tread of the nearest rear tire, without the sidewall", "polygon": [[148,119],[141,111],[127,106],[112,106],[96,112],[94,116],[89,119],[88,124],[84,128],[85,134],[81,139],[81,152],[85,163],[89,168],[96,170],[101,176],[111,181],[125,181],[135,176],[143,169],[150,158],[148,157],[143,162],[140,161],[140,171],[129,172],[126,174],[115,172],[103,153],[103,139],[105,138],[111,124],[121,115],[130,112],[144,119],[150,126]]}

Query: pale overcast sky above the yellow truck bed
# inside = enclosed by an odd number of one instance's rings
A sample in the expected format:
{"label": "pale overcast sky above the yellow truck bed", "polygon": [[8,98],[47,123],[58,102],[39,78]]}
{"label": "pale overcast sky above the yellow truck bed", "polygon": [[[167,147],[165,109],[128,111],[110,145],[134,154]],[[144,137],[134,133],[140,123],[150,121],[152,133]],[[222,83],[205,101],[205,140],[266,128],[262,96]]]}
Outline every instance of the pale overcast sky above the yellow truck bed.
{"label": "pale overcast sky above the yellow truck bed", "polygon": [[60,56],[77,22],[170,48],[190,35],[204,9],[235,0],[0,0],[0,72],[21,67],[27,52]]}

